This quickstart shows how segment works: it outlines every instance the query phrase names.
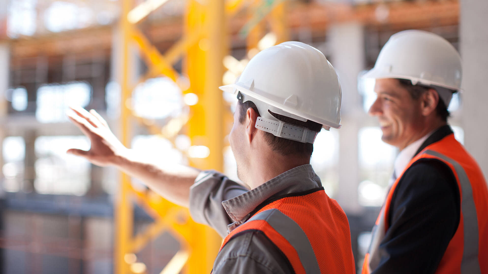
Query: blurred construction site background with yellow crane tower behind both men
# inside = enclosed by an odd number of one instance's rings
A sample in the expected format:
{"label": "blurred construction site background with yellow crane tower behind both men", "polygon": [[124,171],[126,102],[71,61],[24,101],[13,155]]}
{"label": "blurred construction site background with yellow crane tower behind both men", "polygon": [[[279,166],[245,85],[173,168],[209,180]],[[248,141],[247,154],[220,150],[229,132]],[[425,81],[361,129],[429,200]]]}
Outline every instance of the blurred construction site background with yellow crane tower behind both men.
{"label": "blurred construction site background with yellow crane tower behind both men", "polygon": [[148,158],[236,178],[231,83],[285,40],[320,49],[343,85],[340,130],[311,163],[349,218],[358,266],[395,148],[358,80],[395,32],[423,29],[464,59],[449,106],[456,138],[488,174],[486,0],[0,0],[0,272],[209,273],[221,239],[141,182],[66,155],[88,149],[65,116],[95,109]]}

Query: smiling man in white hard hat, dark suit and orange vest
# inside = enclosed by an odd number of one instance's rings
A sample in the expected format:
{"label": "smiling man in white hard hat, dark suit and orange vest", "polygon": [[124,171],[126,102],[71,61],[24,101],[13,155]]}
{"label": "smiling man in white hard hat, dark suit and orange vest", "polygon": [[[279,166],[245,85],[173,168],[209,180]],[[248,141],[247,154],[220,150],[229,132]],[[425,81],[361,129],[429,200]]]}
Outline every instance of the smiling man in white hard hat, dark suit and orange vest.
{"label": "smiling man in white hard hat, dark suit and orange vest", "polygon": [[362,273],[488,274],[487,183],[447,124],[461,87],[456,49],[402,31],[363,77],[376,79],[369,114],[400,153]]}

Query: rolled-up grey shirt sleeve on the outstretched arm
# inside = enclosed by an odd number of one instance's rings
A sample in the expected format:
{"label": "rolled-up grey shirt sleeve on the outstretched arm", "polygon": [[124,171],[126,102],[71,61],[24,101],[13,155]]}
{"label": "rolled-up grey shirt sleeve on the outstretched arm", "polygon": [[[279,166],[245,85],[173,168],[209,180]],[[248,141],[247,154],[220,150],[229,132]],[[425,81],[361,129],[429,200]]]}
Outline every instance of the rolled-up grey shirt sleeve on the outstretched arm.
{"label": "rolled-up grey shirt sleeve on the outstretched arm", "polygon": [[203,171],[190,187],[190,215],[198,223],[212,227],[219,235],[227,235],[233,223],[222,201],[239,196],[248,189],[216,171]]}

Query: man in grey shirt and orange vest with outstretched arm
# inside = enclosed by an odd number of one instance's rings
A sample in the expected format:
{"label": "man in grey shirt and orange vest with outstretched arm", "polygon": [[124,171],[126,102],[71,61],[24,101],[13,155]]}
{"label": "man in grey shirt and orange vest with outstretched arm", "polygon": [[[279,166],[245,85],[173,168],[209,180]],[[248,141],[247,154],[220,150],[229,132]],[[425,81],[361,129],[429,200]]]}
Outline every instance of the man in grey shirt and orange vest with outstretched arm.
{"label": "man in grey shirt and orange vest with outstretched arm", "polygon": [[215,274],[354,274],[346,215],[310,165],[318,132],[341,126],[332,65],[309,45],[285,42],[257,54],[221,89],[239,99],[229,142],[250,189],[215,171],[145,162],[94,110],[73,108],[70,120],[91,149],[68,153],[116,166],[189,207],[195,221],[224,237]]}

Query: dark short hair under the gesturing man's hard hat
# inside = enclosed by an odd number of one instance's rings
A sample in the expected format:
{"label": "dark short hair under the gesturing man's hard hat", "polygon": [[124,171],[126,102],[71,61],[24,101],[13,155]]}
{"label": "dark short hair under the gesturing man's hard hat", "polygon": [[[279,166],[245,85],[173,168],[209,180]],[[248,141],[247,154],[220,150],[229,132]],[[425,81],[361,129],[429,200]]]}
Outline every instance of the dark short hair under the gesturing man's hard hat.
{"label": "dark short hair under the gesturing man's hard hat", "polygon": [[[239,122],[241,124],[243,124],[245,121],[246,112],[247,112],[248,108],[254,109],[256,114],[258,116],[261,116],[259,114],[258,108],[256,107],[256,105],[252,101],[245,101],[243,103],[243,102],[241,102],[241,100],[239,100],[238,103],[241,106],[241,110],[239,112]],[[304,128],[309,129],[309,130],[316,131],[316,132],[320,132],[320,130],[322,129],[322,125],[317,123],[317,122],[314,122],[314,121],[307,120],[306,122],[304,122],[304,121],[300,121],[300,120],[293,119],[290,117],[286,117],[283,115],[279,115],[276,113],[272,113],[271,111],[269,111],[269,113],[272,116],[274,116],[275,118],[277,118],[281,121],[284,121],[285,123],[304,127]],[[277,137],[277,136],[274,136],[273,134],[271,134],[269,132],[265,132],[265,131],[263,131],[263,133],[264,133],[264,140],[266,141],[266,143],[271,147],[271,149],[274,152],[276,152],[280,155],[284,155],[284,156],[295,155],[295,156],[308,157],[308,158],[310,158],[312,156],[313,144],[311,144],[311,143],[302,143],[302,142],[295,141],[295,140]]]}

